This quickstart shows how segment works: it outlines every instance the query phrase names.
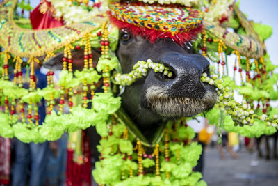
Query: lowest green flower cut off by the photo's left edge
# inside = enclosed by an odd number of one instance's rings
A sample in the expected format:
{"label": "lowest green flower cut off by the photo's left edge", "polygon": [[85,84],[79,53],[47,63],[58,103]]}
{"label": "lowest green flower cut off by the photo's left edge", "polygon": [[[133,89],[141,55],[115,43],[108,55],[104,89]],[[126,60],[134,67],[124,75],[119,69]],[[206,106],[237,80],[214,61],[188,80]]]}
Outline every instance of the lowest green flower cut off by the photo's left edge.
{"label": "lowest green flower cut off by the photo's left edge", "polygon": [[12,126],[9,124],[8,114],[3,114],[0,112],[0,136],[12,138],[14,137],[14,132]]}

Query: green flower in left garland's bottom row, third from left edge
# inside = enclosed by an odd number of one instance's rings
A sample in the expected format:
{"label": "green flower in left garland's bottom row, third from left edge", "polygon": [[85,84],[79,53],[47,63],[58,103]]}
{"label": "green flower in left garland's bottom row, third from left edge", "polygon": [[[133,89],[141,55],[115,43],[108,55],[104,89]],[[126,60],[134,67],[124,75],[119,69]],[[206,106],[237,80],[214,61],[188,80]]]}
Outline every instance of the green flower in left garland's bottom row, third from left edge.
{"label": "green flower in left garland's bottom row, third from left edge", "polygon": [[65,130],[61,118],[57,116],[55,111],[52,111],[50,115],[46,116],[43,125],[40,127],[40,134],[44,139],[49,141],[60,139]]}

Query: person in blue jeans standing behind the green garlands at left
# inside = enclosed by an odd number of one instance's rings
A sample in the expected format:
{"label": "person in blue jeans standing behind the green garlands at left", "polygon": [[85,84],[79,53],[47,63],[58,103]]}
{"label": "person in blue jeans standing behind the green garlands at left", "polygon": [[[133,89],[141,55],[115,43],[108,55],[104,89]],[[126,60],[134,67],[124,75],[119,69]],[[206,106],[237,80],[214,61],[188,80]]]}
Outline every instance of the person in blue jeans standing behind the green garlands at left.
{"label": "person in blue jeans standing behind the green garlands at left", "polygon": [[[25,77],[25,75],[22,75]],[[47,76],[40,72],[38,64],[35,65],[35,77],[38,79],[36,86],[45,88],[47,86]],[[24,79],[23,79],[24,80]],[[28,88],[24,84],[24,88]],[[38,104],[39,124],[42,125],[46,116],[44,100]],[[13,166],[13,186],[24,186],[27,182],[28,167],[31,164],[31,173],[28,180],[30,186],[40,186],[45,184],[44,173],[47,166],[47,155],[49,153],[49,141],[35,144],[26,144],[18,139],[15,140],[15,164]]]}

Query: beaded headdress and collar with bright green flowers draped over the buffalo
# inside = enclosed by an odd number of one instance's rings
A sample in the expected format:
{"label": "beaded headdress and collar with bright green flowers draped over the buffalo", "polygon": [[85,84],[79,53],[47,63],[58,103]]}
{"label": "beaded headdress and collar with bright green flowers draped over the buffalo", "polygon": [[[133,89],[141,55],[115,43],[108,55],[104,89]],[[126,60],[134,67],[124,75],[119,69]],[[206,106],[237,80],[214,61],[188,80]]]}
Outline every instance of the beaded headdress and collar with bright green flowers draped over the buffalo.
{"label": "beaded headdress and collar with bright green flowers draped over the buffalo", "polygon": [[[63,17],[65,26],[38,31],[19,28],[13,20],[16,1],[1,3],[0,45],[4,51],[1,53],[0,96],[5,107],[0,116],[1,136],[15,136],[26,143],[38,143],[56,140],[65,131],[95,126],[102,139],[98,146],[101,160],[96,163],[93,176],[100,185],[206,185],[199,181],[201,173],[192,171],[201,147],[189,143],[194,132],[187,127],[185,118],[161,125],[153,141],[149,142],[120,109],[120,98],[113,96],[111,82],[114,86],[129,86],[147,75],[147,69],[169,77],[172,75],[164,65],[148,60],[138,61],[129,74],[111,76],[112,70],[120,72],[113,51],[117,46],[117,29],[122,27],[151,42],[159,38],[172,38],[179,45],[192,42],[195,52],[202,52],[212,63],[215,62],[217,70],[214,75],[203,74],[201,80],[215,85],[218,92],[218,104],[207,116],[211,123],[218,125],[219,131],[224,127],[227,131],[247,136],[276,131],[277,111],[270,107],[270,100],[277,100],[273,86],[278,77],[270,73],[276,67],[265,54],[263,41],[269,36],[261,32],[268,27],[248,22],[234,1],[104,1],[102,6],[101,3],[85,1],[83,4],[65,0],[49,2],[54,7],[50,13],[54,17]],[[74,23],[76,20],[78,22]],[[73,74],[72,50],[81,48],[84,49],[84,68]],[[92,63],[91,48],[101,49],[96,66]],[[35,63],[47,61],[60,51],[64,52],[64,57],[59,90],[54,88],[54,73],[51,71],[47,73],[47,88],[36,88]],[[238,69],[242,86],[237,86],[227,76],[226,56],[229,54],[236,54],[234,77]],[[25,63],[30,69],[28,89],[22,84],[22,65]],[[9,80],[9,65],[14,68],[12,81]],[[100,79],[104,93],[95,93]],[[83,85],[82,103],[77,105],[79,84]],[[244,95],[241,104],[234,101],[233,90]],[[42,98],[47,100],[48,115],[43,125],[38,125],[37,104]],[[57,113],[53,111],[55,100],[59,100]],[[70,114],[63,114],[65,100]],[[91,108],[88,108],[89,103],[92,103]],[[265,127],[265,123],[273,127]]]}

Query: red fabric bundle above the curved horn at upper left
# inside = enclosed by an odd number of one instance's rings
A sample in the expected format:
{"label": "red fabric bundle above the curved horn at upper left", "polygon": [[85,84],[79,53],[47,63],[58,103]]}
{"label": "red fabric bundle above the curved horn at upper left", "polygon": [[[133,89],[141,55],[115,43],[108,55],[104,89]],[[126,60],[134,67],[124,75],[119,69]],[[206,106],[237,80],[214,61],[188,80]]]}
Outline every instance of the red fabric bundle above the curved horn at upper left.
{"label": "red fabric bundle above the curved horn at upper left", "polygon": [[[41,6],[47,8],[45,13],[41,12]],[[63,19],[57,20],[56,17],[52,16],[54,13],[53,7],[51,3],[48,1],[42,1],[40,4],[30,13],[30,20],[33,29],[40,30],[40,29],[50,29],[56,28],[59,26],[63,26]]]}

